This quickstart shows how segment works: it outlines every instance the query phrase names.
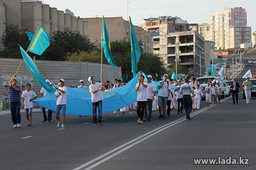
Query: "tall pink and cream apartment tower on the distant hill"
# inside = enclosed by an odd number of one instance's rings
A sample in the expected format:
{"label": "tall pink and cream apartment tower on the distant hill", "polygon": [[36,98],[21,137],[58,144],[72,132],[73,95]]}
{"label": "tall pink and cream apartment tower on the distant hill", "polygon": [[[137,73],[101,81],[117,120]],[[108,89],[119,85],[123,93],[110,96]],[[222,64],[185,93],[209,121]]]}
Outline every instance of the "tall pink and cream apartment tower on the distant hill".
{"label": "tall pink and cream apartment tower on the distant hill", "polygon": [[217,49],[239,48],[241,43],[252,42],[252,27],[247,26],[247,13],[242,7],[212,12],[210,41]]}

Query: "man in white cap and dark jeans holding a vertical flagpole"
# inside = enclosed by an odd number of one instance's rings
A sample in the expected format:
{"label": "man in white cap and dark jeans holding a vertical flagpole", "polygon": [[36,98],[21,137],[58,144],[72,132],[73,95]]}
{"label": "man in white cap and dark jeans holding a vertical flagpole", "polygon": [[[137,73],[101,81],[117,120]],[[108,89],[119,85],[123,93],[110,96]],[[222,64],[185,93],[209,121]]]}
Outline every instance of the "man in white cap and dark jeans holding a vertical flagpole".
{"label": "man in white cap and dark jeans holding a vertical flagpole", "polygon": [[[106,85],[105,80],[103,79],[103,76],[101,75],[103,84]],[[103,90],[101,83],[96,83],[96,78],[89,77],[88,81],[92,84],[89,86],[90,93],[92,93],[92,109],[93,109],[93,125],[97,125],[97,107],[99,112],[99,125],[102,125],[101,118],[102,118],[102,100],[103,95],[101,90]]]}

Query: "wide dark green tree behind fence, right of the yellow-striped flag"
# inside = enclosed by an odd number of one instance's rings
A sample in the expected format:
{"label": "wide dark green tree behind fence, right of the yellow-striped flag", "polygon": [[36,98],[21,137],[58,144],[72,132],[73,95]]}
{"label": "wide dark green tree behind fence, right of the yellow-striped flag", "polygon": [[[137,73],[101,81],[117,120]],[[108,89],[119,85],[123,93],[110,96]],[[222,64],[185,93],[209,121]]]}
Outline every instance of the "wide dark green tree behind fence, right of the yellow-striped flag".
{"label": "wide dark green tree behind fence, right of the yellow-striped flag", "polygon": [[51,44],[40,59],[64,61],[69,53],[88,52],[93,49],[96,49],[96,46],[90,42],[87,36],[82,36],[80,32],[69,29],[58,30],[53,32]]}

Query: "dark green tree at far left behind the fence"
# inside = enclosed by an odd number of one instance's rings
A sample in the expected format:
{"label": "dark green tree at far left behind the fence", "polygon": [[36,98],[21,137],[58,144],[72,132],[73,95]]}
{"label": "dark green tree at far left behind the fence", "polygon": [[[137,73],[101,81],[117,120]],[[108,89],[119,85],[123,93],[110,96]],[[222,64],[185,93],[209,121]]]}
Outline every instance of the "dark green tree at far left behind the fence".
{"label": "dark green tree at far left behind the fence", "polygon": [[24,49],[27,49],[30,41],[28,40],[26,30],[20,31],[18,25],[7,25],[4,34],[1,38],[2,48],[0,56],[3,58],[22,58],[18,44]]}

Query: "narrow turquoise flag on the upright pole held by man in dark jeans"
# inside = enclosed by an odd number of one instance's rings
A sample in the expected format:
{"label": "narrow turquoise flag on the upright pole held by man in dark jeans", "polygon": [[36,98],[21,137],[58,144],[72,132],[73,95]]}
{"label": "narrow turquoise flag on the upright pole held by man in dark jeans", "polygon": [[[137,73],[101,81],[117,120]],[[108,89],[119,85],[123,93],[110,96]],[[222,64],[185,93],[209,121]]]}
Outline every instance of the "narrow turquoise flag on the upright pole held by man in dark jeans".
{"label": "narrow turquoise flag on the upright pole held by man in dark jeans", "polygon": [[104,49],[105,57],[108,60],[108,63],[112,65],[112,67],[116,68],[116,63],[112,57],[109,36],[108,36],[108,29],[106,26],[105,18],[103,16],[103,25],[102,25],[102,48]]}

